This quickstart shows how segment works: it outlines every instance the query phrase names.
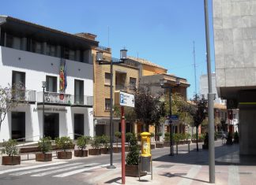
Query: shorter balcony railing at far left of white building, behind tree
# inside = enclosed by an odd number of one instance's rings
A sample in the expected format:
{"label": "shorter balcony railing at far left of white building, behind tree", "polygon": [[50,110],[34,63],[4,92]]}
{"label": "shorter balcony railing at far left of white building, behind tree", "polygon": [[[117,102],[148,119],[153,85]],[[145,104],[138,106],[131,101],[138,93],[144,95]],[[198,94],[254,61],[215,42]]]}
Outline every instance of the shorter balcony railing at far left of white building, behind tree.
{"label": "shorter balcony railing at far left of white building, behind tree", "polygon": [[15,102],[36,102],[36,91],[19,90],[13,94]]}

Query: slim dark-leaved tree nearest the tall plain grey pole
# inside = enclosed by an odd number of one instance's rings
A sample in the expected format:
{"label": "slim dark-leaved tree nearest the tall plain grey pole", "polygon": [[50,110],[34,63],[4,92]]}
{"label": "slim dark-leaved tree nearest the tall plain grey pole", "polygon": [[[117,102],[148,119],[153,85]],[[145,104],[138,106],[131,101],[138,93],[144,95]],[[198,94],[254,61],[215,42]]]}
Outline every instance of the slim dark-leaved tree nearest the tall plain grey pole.
{"label": "slim dark-leaved tree nearest the tall plain grey pole", "polygon": [[198,150],[198,127],[205,120],[207,102],[204,98],[200,98],[198,94],[194,95],[192,100],[194,109],[191,109],[191,116],[194,120],[194,126],[197,128],[197,150]]}

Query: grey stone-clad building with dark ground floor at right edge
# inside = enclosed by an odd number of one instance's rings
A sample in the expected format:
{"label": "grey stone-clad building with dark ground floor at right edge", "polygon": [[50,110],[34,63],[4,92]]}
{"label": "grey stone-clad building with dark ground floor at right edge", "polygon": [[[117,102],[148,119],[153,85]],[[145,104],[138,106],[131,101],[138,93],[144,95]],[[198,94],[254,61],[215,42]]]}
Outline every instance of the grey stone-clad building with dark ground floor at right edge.
{"label": "grey stone-clad building with dark ground floor at right edge", "polygon": [[256,2],[213,0],[216,88],[239,109],[240,154],[256,154]]}

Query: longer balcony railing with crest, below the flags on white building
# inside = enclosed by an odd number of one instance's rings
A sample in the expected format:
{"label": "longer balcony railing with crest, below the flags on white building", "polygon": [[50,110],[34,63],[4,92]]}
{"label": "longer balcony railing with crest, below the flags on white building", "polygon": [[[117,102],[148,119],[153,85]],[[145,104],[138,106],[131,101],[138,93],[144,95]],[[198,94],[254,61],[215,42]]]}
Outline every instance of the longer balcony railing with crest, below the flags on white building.
{"label": "longer balcony railing with crest, below the flags on white building", "polygon": [[[37,93],[37,102],[43,102],[43,92]],[[93,96],[77,96],[57,92],[45,92],[44,102],[61,105],[93,105]]]}

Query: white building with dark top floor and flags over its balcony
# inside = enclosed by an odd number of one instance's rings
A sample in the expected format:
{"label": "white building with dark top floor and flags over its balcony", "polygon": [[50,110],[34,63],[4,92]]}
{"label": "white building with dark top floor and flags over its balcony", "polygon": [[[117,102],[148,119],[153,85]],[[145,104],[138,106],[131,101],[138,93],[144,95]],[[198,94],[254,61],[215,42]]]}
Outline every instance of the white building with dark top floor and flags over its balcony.
{"label": "white building with dark top floor and flags over its balcony", "polygon": [[[0,16],[0,86],[21,82],[25,87],[24,103],[2,123],[1,140],[93,135],[92,47],[98,42],[90,36]],[[66,61],[65,92],[59,87],[61,61]]]}

